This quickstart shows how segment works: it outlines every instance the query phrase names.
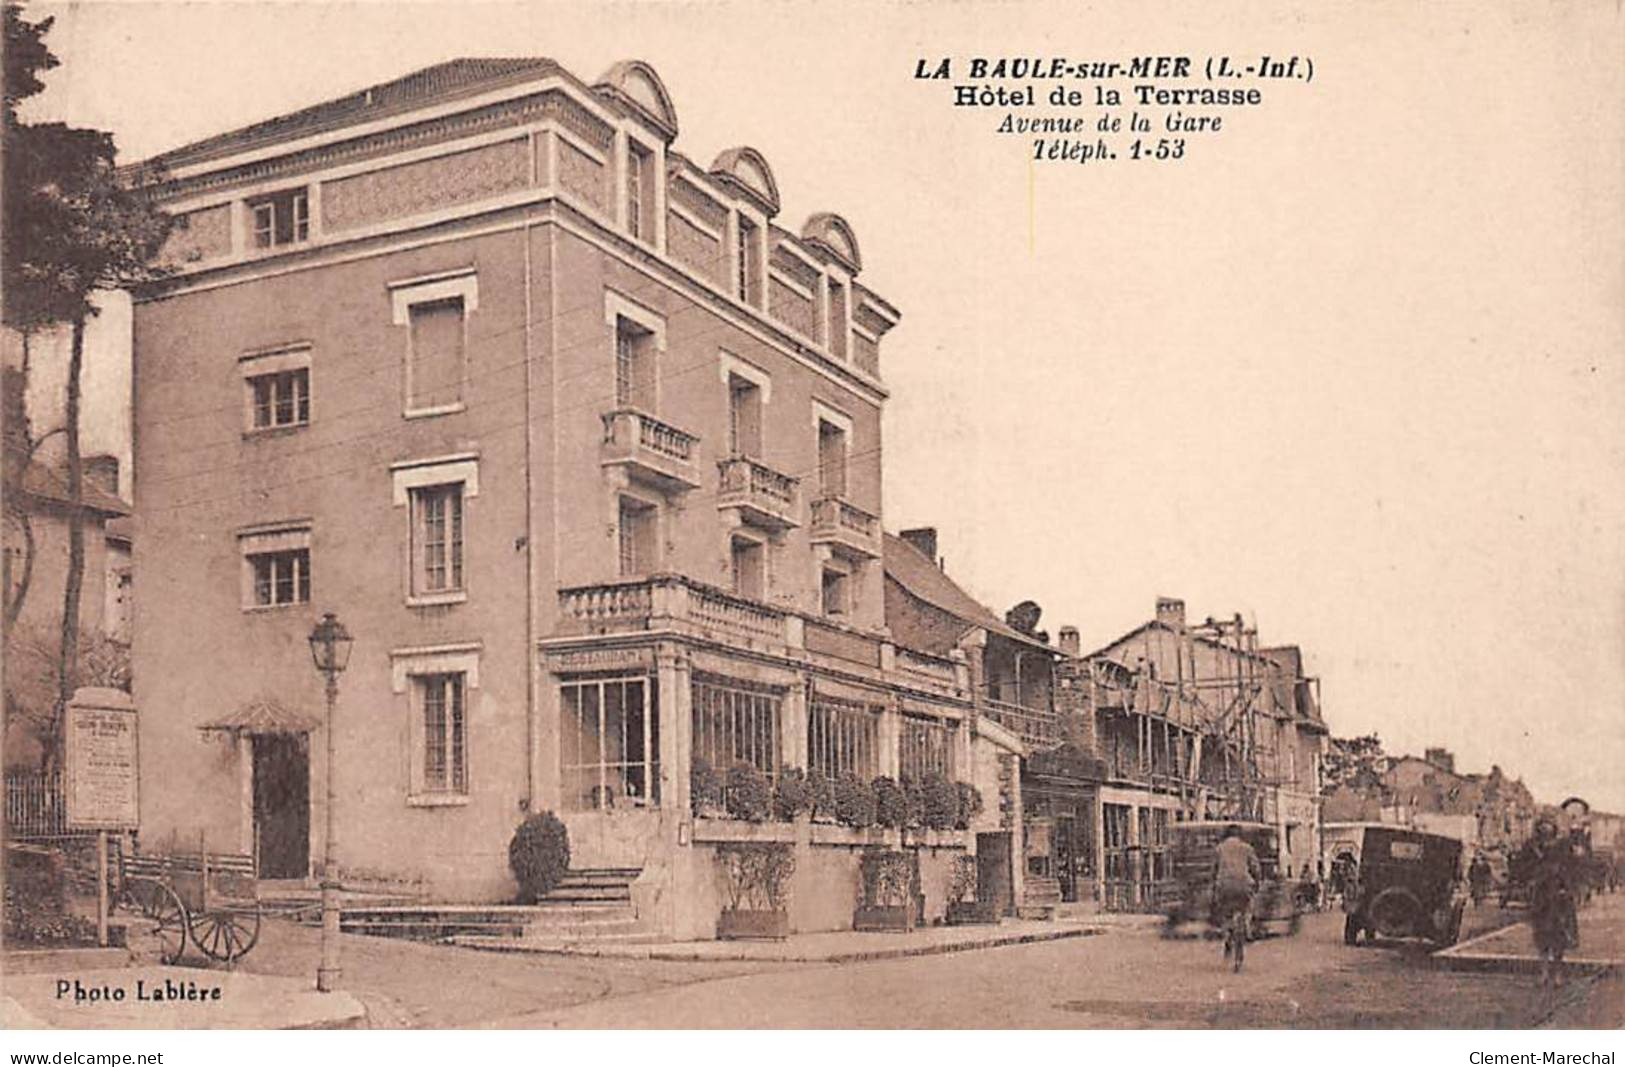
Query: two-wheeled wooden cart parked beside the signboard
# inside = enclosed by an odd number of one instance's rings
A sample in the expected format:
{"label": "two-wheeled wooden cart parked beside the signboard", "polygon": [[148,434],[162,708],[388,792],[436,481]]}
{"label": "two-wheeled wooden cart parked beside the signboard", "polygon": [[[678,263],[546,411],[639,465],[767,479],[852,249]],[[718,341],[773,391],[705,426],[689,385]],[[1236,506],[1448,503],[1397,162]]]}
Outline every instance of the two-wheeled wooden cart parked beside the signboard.
{"label": "two-wheeled wooden cart parked beside the signboard", "polygon": [[119,900],[153,937],[164,963],[187,940],[211,960],[234,963],[260,940],[258,872],[252,856],[167,853],[120,856]]}

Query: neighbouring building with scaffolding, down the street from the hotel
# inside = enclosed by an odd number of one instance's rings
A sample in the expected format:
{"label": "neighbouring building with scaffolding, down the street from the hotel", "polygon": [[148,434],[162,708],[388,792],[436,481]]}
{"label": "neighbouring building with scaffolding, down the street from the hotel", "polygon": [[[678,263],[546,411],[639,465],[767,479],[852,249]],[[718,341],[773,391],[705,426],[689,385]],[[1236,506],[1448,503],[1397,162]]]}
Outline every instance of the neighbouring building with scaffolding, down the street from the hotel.
{"label": "neighbouring building with scaffolding, down the street from the hotel", "polygon": [[1150,909],[1173,887],[1172,827],[1245,819],[1277,828],[1294,875],[1320,856],[1326,724],[1297,646],[1185,620],[1185,603],[1079,654],[1063,630],[1061,692],[1072,734],[1100,760],[1095,893],[1108,909]]}

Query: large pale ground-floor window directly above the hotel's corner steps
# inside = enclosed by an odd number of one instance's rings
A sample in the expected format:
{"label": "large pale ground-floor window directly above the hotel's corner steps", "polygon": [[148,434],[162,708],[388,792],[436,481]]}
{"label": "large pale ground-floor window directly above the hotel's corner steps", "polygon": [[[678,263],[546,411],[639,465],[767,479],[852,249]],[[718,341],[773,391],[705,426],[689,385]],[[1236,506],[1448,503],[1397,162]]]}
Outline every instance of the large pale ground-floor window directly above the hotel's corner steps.
{"label": "large pale ground-floor window directly above the hotel's corner steps", "polygon": [[660,804],[660,713],[648,677],[559,685],[564,804],[572,810]]}

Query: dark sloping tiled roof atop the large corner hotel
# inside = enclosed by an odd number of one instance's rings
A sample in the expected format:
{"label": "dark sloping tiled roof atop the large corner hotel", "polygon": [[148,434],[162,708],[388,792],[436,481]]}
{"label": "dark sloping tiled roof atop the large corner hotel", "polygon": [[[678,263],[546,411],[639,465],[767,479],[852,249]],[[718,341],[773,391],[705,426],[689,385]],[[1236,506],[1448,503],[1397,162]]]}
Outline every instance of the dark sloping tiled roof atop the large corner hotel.
{"label": "dark sloping tiled roof atop the large corner hotel", "polygon": [[216,133],[162,153],[154,164],[176,167],[202,162],[236,151],[320,133],[338,127],[382,119],[442,99],[471,96],[512,81],[525,81],[559,70],[551,58],[455,58],[384,81],[349,96],[323,101],[286,115],[276,115],[237,130]]}

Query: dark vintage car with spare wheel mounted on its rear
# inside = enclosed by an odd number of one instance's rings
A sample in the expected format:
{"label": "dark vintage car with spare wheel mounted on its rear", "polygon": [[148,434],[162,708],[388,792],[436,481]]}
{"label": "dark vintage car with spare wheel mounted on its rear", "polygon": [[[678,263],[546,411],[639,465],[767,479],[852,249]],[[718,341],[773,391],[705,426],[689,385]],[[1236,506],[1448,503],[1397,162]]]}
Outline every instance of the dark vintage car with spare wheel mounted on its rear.
{"label": "dark vintage car with spare wheel mounted on its rear", "polygon": [[1467,906],[1461,841],[1404,827],[1367,827],[1358,880],[1344,898],[1342,940],[1422,937],[1454,945]]}

